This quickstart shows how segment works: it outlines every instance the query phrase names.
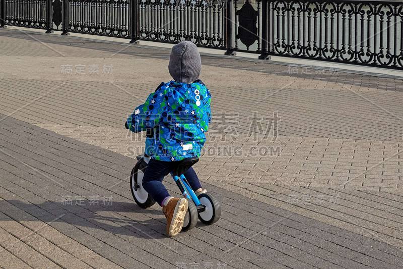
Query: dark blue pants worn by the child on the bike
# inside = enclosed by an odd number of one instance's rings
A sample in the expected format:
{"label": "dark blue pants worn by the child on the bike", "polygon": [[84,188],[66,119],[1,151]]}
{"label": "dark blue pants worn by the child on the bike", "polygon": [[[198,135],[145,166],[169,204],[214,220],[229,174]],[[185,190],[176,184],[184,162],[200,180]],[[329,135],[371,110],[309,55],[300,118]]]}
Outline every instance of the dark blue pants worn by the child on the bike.
{"label": "dark blue pants worn by the child on the bike", "polygon": [[[162,180],[177,165],[178,162],[163,162],[161,160],[150,159],[143,177],[144,189],[162,206],[162,201],[170,196]],[[201,188],[198,177],[193,168],[189,168],[184,174],[185,178],[193,190]]]}

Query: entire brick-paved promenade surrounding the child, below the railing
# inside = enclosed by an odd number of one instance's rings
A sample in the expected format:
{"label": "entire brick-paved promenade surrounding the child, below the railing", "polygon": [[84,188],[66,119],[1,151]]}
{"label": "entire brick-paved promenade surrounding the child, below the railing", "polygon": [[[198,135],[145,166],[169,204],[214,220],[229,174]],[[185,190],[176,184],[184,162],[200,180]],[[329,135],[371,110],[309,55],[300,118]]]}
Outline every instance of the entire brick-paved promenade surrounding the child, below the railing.
{"label": "entire brick-paved promenade surrounding the child, below the railing", "polygon": [[171,239],[133,202],[144,137],[122,128],[169,50],[0,38],[0,267],[401,267],[403,80],[202,55],[214,115],[195,170],[224,211]]}

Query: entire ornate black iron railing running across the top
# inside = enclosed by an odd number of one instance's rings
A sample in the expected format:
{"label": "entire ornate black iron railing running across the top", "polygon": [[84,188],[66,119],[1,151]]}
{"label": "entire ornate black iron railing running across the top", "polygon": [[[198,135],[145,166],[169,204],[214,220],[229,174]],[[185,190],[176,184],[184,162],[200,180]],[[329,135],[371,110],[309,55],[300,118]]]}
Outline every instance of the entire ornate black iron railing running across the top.
{"label": "entire ornate black iron railing running across the top", "polygon": [[16,25],[403,68],[403,4],[298,0],[0,0]]}

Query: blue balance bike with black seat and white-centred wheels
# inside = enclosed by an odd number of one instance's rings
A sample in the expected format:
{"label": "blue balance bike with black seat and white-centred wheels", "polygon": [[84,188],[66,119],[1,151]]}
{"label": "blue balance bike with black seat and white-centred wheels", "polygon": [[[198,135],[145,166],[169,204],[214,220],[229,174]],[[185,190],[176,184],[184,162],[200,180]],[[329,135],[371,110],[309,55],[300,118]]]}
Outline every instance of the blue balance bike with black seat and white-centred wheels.
{"label": "blue balance bike with black seat and white-centred wheels", "polygon": [[[147,164],[150,161],[150,157],[147,155],[139,155],[137,156],[137,160],[135,167],[133,167],[130,173],[131,194],[140,207],[147,208],[155,203],[153,197],[143,188],[143,176]],[[185,158],[179,161],[177,167],[171,172],[173,180],[180,192],[189,202],[182,231],[188,231],[195,227],[197,217],[206,225],[217,222],[221,217],[221,205],[216,196],[212,193],[201,193],[196,196],[183,175],[187,169],[197,162],[197,157]]]}

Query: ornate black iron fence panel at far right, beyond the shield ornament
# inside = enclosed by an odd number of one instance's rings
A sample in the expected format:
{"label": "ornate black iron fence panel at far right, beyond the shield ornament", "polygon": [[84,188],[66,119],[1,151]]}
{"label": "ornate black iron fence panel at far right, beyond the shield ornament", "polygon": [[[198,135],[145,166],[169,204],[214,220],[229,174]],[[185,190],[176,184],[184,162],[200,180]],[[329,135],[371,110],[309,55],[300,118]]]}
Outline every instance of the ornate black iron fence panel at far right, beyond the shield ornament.
{"label": "ornate black iron fence panel at far right, beyond the shield ornament", "polygon": [[403,4],[386,1],[268,1],[262,55],[403,67]]}

